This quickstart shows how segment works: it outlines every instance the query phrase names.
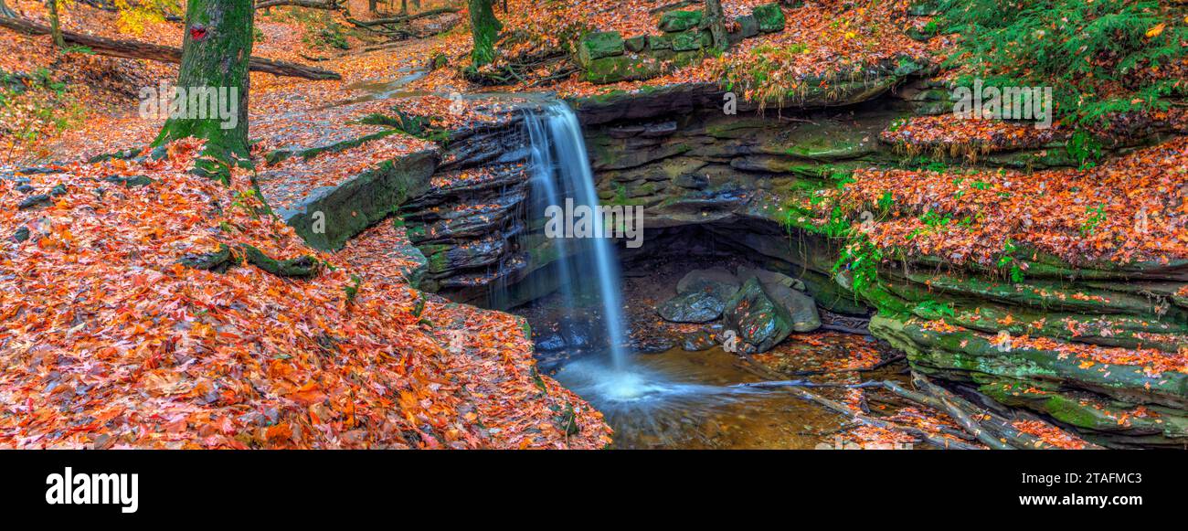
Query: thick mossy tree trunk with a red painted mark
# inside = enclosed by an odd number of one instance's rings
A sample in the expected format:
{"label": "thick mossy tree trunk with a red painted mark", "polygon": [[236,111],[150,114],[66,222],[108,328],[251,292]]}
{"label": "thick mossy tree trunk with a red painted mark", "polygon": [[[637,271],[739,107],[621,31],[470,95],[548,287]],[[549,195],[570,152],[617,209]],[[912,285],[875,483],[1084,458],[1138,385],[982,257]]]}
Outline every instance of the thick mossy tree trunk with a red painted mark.
{"label": "thick mossy tree trunk with a red painted mark", "polygon": [[210,106],[187,105],[185,115],[171,115],[153,141],[153,145],[162,145],[187,137],[206,139],[203,157],[195,171],[225,183],[230,182],[232,164],[251,165],[247,151],[247,63],[252,56],[254,12],[251,0],[187,2],[185,40],[177,88],[187,90],[190,101],[196,100],[195,90],[206,90],[209,95],[214,89],[217,94],[214,107],[219,107],[219,112],[210,116]]}

